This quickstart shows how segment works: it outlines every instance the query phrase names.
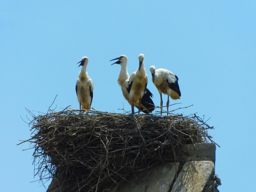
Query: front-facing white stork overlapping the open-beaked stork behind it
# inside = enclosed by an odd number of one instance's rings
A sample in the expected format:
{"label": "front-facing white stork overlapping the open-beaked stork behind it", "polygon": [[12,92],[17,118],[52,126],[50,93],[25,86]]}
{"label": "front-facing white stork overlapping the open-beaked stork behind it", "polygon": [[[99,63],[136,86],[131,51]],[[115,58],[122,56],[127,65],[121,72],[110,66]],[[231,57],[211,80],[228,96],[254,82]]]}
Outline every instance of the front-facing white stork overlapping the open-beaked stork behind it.
{"label": "front-facing white stork overlapping the open-beaked stork behind it", "polygon": [[[148,76],[144,67],[144,54],[139,54],[139,69],[133,72],[128,81],[129,102],[132,102],[132,114],[134,114],[134,103],[139,102],[140,111],[141,98],[148,84]],[[138,112],[139,114],[139,112]]]}

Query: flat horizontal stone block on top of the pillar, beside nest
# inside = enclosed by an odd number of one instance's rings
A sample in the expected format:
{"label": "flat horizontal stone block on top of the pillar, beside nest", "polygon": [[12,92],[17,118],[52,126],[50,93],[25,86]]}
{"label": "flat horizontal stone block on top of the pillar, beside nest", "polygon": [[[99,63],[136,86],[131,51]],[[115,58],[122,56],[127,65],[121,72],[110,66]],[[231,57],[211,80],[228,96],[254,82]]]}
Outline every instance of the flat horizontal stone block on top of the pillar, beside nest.
{"label": "flat horizontal stone block on top of the pillar, beside nest", "polygon": [[176,151],[179,161],[212,161],[215,164],[216,145],[214,143],[195,143],[184,145]]}

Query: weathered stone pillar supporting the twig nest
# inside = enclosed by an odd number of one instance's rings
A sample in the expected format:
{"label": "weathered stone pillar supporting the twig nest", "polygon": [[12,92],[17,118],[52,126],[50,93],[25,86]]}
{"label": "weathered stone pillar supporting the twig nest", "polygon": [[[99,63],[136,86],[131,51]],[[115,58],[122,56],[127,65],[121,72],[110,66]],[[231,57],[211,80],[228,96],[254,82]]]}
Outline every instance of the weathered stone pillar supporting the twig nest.
{"label": "weathered stone pillar supporting the twig nest", "polygon": [[[110,184],[104,192],[218,192],[221,183],[215,174],[215,150],[214,143],[184,145],[176,151],[179,162],[137,172],[118,190]],[[58,191],[53,179],[47,192]]]}

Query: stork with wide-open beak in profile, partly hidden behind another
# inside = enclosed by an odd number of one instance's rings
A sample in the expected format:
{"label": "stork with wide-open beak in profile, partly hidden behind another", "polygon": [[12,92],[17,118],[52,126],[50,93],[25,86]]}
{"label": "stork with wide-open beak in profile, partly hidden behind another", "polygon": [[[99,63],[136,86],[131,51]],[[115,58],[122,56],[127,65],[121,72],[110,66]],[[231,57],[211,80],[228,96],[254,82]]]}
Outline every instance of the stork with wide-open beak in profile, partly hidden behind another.
{"label": "stork with wide-open beak in profile, partly hidden behind another", "polygon": [[[117,61],[111,65],[114,65],[114,64],[121,65],[121,70],[120,70],[117,82],[121,86],[121,90],[123,92],[124,98],[128,101],[128,103],[130,105],[132,105],[132,102],[129,101],[130,89],[128,89],[129,88],[128,82],[129,82],[130,76],[127,71],[128,58],[125,55],[121,55],[112,60],[117,60]],[[110,61],[112,61],[112,60],[110,60]],[[141,99],[141,108],[143,109],[142,112],[147,113],[147,114],[150,112],[153,112],[155,104],[154,104],[153,100],[151,99],[152,97],[153,97],[153,94],[146,88],[144,95],[142,96],[142,99]],[[138,108],[139,101],[135,102],[134,105],[135,105],[135,107]]]}

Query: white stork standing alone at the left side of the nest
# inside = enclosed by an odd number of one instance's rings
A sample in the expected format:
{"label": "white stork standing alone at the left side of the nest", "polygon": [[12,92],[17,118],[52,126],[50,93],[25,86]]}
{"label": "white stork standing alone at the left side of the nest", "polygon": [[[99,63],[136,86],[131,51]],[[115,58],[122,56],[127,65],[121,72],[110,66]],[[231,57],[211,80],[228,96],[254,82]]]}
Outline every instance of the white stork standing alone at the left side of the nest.
{"label": "white stork standing alone at the left side of the nest", "polygon": [[76,81],[76,96],[80,110],[91,109],[92,105],[94,83],[86,71],[88,60],[88,57],[82,57],[82,60],[78,62],[80,63],[78,67],[82,66]]}

